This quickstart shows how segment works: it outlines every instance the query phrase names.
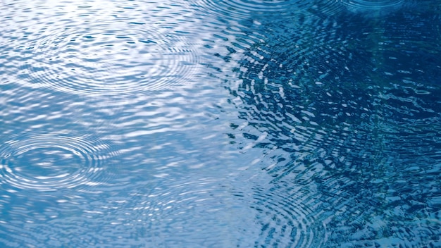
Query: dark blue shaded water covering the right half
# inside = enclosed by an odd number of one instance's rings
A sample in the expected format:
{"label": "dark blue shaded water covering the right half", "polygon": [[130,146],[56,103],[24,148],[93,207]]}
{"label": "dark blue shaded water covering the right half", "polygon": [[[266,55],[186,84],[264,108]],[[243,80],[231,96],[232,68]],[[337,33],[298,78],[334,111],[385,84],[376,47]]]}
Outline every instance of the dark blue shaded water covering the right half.
{"label": "dark blue shaded water covering the right half", "polygon": [[265,134],[243,134],[273,177],[254,188],[256,247],[440,245],[440,6],[398,2],[242,20],[246,42],[217,54],[242,51],[227,88]]}

